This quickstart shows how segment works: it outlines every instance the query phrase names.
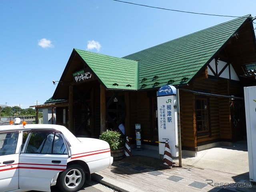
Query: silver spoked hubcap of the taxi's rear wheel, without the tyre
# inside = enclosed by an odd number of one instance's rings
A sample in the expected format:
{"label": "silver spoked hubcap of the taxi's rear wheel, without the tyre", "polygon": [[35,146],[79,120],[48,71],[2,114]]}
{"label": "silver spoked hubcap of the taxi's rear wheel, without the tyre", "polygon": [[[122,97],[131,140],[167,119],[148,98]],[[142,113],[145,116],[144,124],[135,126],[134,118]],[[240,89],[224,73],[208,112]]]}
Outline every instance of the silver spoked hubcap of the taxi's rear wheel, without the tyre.
{"label": "silver spoked hubcap of the taxi's rear wheel, without the tyre", "polygon": [[82,180],[82,174],[79,170],[77,169],[72,169],[68,174],[66,174],[65,177],[65,185],[72,189],[77,187]]}

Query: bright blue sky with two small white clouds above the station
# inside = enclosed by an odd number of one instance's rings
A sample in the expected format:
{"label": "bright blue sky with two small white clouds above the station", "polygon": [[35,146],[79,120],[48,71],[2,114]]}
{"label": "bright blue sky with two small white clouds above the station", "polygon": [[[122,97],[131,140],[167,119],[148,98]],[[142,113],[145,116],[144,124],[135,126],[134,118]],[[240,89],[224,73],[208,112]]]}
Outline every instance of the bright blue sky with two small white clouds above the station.
{"label": "bright blue sky with two small white clouds above the station", "polygon": [[[256,16],[255,0],[124,0],[225,16]],[[114,0],[1,0],[0,104],[44,104],[73,48],[123,57],[232,20]],[[254,20],[256,23],[256,20]],[[256,25],[254,25],[254,28]]]}

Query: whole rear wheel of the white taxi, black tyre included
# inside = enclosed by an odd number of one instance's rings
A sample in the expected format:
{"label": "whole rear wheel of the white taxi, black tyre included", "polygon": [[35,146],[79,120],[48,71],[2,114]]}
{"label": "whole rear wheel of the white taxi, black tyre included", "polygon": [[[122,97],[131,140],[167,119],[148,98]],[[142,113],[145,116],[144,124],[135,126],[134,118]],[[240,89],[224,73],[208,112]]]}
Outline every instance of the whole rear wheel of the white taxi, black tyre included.
{"label": "whole rear wheel of the white taxi, black tyre included", "polygon": [[70,165],[58,178],[57,185],[62,192],[76,192],[84,185],[84,169],[80,165]]}

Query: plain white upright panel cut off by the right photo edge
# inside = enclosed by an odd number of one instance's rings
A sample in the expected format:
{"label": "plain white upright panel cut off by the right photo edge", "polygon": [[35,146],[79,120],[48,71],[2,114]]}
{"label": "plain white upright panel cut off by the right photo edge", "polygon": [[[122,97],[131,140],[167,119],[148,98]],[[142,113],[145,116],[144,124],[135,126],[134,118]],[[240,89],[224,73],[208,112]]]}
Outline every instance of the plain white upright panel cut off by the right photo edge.
{"label": "plain white upright panel cut off by the right photo edge", "polygon": [[244,87],[250,181],[256,182],[256,86]]}

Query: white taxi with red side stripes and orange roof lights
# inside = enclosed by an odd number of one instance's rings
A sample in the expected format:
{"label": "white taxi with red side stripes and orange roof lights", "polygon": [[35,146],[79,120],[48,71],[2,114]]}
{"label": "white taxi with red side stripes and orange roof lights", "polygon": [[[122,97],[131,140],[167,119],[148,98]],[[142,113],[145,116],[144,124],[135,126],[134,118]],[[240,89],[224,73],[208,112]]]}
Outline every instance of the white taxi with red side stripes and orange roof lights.
{"label": "white taxi with red side stripes and orange roof lights", "polygon": [[[18,120],[17,120],[18,121]],[[107,142],[50,124],[0,126],[0,192],[76,192],[113,163]]]}

